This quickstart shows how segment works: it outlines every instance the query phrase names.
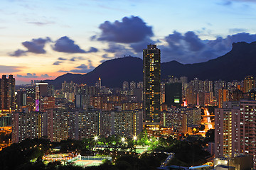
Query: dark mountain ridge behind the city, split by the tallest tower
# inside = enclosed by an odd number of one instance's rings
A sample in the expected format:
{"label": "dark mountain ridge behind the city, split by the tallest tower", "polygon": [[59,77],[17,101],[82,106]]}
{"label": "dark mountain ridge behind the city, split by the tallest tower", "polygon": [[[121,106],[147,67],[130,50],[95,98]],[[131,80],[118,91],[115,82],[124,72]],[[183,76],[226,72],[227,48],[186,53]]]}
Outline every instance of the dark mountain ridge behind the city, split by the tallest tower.
{"label": "dark mountain ridge behind the city, split by the tallest tower", "polygon": [[[241,80],[247,75],[256,75],[256,42],[233,43],[232,50],[223,56],[207,62],[182,64],[175,60],[161,63],[161,79],[188,77],[188,80],[198,77],[201,80]],[[47,80],[57,87],[65,81],[77,84],[93,85],[100,77],[102,85],[120,87],[123,81],[142,81],[143,61],[138,57],[122,57],[102,62],[87,74],[63,74],[55,80]]]}

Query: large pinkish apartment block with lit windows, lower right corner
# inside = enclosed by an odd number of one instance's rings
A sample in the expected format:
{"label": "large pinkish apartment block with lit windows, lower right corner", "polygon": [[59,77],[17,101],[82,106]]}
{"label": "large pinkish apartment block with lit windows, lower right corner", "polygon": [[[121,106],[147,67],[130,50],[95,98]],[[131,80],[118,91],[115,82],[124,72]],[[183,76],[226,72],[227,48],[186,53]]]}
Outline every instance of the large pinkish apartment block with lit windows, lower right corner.
{"label": "large pinkish apartment block with lit windows, lower right corner", "polygon": [[215,109],[215,158],[252,155],[255,169],[255,115],[256,101],[231,101]]}

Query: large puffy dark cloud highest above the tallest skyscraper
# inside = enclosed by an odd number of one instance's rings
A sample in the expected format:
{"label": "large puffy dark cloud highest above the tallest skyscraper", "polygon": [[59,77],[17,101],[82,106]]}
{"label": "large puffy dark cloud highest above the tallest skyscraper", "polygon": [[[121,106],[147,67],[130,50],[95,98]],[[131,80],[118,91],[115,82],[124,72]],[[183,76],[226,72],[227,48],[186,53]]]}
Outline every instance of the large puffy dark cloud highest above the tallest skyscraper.
{"label": "large puffy dark cloud highest above the tallest skyscraper", "polygon": [[[122,21],[105,21],[100,24],[102,33],[97,40],[108,42],[131,43],[140,42],[147,37],[154,35],[151,26],[146,26],[146,23],[138,16],[122,18]],[[95,40],[96,36],[92,36],[91,40]]]}

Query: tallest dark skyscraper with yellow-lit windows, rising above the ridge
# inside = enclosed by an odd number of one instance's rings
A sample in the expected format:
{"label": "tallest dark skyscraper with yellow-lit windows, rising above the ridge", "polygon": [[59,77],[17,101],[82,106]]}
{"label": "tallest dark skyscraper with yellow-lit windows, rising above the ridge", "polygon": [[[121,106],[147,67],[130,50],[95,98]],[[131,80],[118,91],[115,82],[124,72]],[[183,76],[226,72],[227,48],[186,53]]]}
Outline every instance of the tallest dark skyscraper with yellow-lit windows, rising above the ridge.
{"label": "tallest dark skyscraper with yellow-lit windows, rising above the ridge", "polygon": [[148,45],[143,50],[143,113],[144,123],[160,122],[160,50]]}

